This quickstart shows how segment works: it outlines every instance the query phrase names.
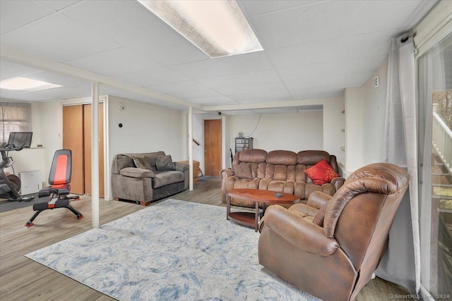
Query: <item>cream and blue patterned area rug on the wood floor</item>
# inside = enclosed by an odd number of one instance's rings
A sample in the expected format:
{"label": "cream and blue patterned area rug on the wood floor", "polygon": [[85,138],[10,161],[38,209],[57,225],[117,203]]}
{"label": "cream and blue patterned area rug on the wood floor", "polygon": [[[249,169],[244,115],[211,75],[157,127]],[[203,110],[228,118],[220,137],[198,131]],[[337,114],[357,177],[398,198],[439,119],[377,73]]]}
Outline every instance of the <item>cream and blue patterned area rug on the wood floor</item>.
{"label": "cream and blue patterned area rug on the wood floor", "polygon": [[258,235],[167,199],[25,256],[117,300],[318,300],[258,264]]}

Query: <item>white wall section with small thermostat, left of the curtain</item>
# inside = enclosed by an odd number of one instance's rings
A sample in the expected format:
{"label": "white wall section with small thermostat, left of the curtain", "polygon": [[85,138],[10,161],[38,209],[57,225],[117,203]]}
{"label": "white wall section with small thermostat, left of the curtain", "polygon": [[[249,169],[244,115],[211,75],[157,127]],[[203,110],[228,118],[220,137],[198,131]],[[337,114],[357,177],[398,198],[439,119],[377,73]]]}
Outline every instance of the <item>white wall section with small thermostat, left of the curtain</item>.
{"label": "white wall section with small thermostat, left of the curtain", "polygon": [[[374,78],[379,76],[379,87]],[[345,89],[347,173],[383,161],[383,137],[388,86],[388,59],[362,87]]]}

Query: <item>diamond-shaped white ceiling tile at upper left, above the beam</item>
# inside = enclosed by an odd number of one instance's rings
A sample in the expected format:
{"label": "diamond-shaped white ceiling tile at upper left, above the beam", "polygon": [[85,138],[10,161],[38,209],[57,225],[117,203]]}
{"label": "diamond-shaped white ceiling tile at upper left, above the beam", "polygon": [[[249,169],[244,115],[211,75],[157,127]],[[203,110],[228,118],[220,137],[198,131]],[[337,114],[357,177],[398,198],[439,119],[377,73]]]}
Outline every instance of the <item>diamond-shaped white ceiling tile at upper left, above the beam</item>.
{"label": "diamond-shaped white ceiling tile at upper left, above the beam", "polygon": [[61,16],[47,18],[32,27],[22,27],[2,37],[1,44],[59,62],[121,47]]}

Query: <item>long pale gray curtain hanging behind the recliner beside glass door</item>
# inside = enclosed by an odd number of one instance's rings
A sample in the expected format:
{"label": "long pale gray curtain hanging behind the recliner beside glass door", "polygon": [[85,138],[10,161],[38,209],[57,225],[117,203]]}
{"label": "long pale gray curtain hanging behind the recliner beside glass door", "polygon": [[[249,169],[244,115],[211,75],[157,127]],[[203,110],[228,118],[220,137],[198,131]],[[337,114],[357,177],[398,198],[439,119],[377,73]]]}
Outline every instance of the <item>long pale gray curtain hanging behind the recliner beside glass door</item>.
{"label": "long pale gray curtain hanging behind the recliner beside glass door", "polygon": [[415,49],[412,37],[393,39],[388,60],[384,153],[387,162],[406,167],[410,188],[389,233],[388,250],[376,275],[420,290],[420,235],[417,190]]}

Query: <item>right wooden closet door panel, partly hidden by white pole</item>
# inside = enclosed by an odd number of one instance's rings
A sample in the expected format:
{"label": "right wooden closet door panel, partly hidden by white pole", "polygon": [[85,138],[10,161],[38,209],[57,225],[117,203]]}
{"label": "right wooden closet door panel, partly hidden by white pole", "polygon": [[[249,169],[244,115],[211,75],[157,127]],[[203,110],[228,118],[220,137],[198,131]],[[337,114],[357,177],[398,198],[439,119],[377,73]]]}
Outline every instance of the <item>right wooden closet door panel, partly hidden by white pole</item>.
{"label": "right wooden closet door panel, partly hidden by white pole", "polygon": [[[99,104],[99,197],[104,197],[104,110]],[[91,195],[91,104],[83,106],[84,154],[85,154],[85,195]]]}

